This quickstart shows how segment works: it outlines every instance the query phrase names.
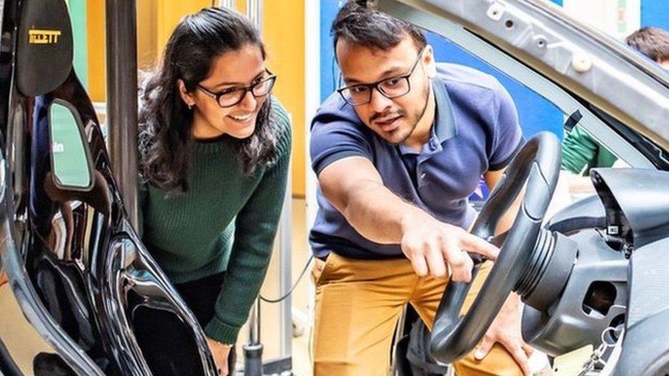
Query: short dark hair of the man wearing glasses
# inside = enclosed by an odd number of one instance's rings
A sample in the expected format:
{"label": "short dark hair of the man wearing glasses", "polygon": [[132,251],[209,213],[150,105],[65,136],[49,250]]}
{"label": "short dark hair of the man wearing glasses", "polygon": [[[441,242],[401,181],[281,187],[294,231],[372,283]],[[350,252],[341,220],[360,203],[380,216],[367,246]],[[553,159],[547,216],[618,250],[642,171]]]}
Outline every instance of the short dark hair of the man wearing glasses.
{"label": "short dark hair of the man wearing glasses", "polygon": [[365,8],[355,1],[348,1],[339,10],[330,31],[334,37],[335,49],[340,39],[384,51],[399,45],[406,36],[411,37],[418,50],[428,43],[425,34],[418,27]]}

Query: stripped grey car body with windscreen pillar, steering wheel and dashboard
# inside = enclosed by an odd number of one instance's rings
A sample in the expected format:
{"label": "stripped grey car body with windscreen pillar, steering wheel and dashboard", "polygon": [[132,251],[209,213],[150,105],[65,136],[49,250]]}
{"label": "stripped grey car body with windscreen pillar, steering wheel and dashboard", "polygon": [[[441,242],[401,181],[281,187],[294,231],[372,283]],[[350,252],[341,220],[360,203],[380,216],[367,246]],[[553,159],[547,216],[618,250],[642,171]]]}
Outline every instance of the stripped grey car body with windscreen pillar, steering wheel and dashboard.
{"label": "stripped grey car body with windscreen pillar, steering wheel and dashboard", "polygon": [[[632,167],[592,170],[597,195],[544,224],[559,145],[555,135],[528,140],[472,229],[499,240],[500,256],[468,312],[460,309],[470,284],[448,284],[426,344],[433,357],[450,363],[470,353],[514,291],[525,303],[522,334],[533,347],[558,356],[607,342],[617,350],[606,353],[613,354],[607,374],[669,373],[669,75],[548,1],[359,2],[509,75]],[[493,238],[523,184],[522,210]]]}

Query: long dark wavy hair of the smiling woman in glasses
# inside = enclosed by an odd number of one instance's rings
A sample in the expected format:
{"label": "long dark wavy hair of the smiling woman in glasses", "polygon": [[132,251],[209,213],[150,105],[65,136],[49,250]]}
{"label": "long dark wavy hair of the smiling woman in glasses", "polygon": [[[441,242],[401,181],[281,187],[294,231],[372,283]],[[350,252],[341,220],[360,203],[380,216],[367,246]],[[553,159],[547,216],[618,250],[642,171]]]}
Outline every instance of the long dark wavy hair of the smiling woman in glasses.
{"label": "long dark wavy hair of the smiling woman in glasses", "polygon": [[[179,95],[178,79],[192,92],[205,79],[217,56],[257,45],[265,59],[258,30],[241,14],[205,8],[182,19],[174,29],[161,66],[140,79],[139,173],[142,181],[178,194],[188,190],[193,112]],[[276,129],[269,121],[271,96],[258,113],[254,133],[232,139],[240,168],[247,176],[269,164],[276,154]]]}

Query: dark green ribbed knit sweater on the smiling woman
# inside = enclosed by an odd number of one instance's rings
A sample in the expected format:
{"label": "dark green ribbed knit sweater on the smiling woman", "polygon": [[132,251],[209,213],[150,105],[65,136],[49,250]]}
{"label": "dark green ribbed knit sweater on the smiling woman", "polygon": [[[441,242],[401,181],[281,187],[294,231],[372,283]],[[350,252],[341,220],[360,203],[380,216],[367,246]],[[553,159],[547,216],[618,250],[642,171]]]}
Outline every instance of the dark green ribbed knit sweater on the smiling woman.
{"label": "dark green ribbed knit sweater on the smiling woman", "polygon": [[291,154],[291,125],[273,99],[270,121],[278,155],[245,177],[228,136],[195,141],[188,191],[167,197],[143,186],[143,242],[173,283],[226,272],[215,315],[205,334],[234,343],[263,284],[281,213]]}

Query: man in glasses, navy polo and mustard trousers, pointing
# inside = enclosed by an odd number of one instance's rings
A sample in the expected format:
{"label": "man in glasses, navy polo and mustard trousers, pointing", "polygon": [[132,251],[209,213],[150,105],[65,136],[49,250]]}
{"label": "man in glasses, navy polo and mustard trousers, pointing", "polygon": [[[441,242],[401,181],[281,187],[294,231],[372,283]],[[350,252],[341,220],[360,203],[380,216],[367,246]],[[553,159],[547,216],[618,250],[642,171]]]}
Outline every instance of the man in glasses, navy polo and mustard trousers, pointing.
{"label": "man in glasses, navy polo and mustard trousers, pointing", "polygon": [[[522,135],[506,90],[471,68],[436,64],[417,27],[350,2],[332,32],[345,86],[311,133],[314,373],[384,375],[404,304],[432,327],[448,278],[472,278],[465,251],[496,257],[465,231],[475,216],[467,197],[482,174],[496,184]],[[519,305],[512,294],[478,349],[454,364],[459,375],[529,373]]]}

